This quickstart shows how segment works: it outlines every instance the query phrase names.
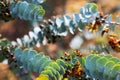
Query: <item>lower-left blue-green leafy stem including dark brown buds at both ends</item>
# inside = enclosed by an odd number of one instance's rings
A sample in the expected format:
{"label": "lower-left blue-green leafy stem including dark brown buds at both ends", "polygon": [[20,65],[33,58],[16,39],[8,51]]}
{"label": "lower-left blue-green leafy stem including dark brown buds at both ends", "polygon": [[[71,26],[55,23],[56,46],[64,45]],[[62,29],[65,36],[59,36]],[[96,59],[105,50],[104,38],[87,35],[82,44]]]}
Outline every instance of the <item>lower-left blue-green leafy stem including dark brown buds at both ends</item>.
{"label": "lower-left blue-green leafy stem including dark brown buds at both ends", "polygon": [[[5,43],[9,46],[6,47],[7,45],[5,45]],[[54,61],[51,60],[50,57],[45,56],[44,53],[37,53],[35,50],[22,50],[18,47],[14,47],[10,50],[11,44],[8,43],[6,39],[1,40],[1,45],[2,44],[3,48],[1,48],[0,55],[3,54],[6,58],[11,59],[12,62],[10,65],[12,66],[15,64],[15,66],[17,65],[18,68],[23,68],[23,70],[39,73],[40,76],[38,77],[38,80],[43,76],[46,76],[48,80],[61,80],[62,78],[66,78],[70,76],[66,72],[68,70],[73,70],[76,61],[78,61],[73,54],[69,57],[65,54],[66,57],[64,59],[62,58]],[[71,73],[71,75],[73,75],[73,73]]]}

